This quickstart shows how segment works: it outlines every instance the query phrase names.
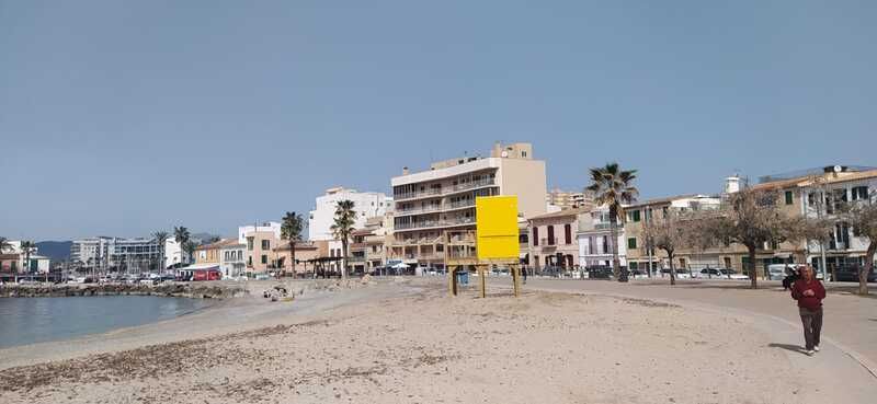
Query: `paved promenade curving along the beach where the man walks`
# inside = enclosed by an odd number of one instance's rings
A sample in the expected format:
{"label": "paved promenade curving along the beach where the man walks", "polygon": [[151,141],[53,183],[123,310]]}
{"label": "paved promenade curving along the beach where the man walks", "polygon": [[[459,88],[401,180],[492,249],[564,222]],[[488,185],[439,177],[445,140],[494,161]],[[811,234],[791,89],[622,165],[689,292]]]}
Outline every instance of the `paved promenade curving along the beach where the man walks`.
{"label": "paved promenade curving along the beach where the man walks", "polygon": [[[508,284],[508,280],[491,278],[491,284]],[[765,321],[773,320],[770,328],[783,331],[787,340],[776,342],[778,349],[794,353],[804,344],[800,335],[800,318],[795,301],[777,281],[760,281],[760,289],[749,289],[749,281],[733,280],[681,280],[671,287],[669,279],[637,279],[629,284],[605,280],[544,279],[531,278],[527,288],[551,291],[622,295],[645,299],[672,301],[690,308],[704,310],[730,310],[758,314]],[[824,300],[822,335],[843,354],[857,360],[868,369],[877,382],[877,290],[874,297],[851,295],[852,284],[828,284]],[[785,323],[786,327],[777,323]],[[790,332],[790,333],[789,333]],[[824,344],[823,344],[824,345]]]}

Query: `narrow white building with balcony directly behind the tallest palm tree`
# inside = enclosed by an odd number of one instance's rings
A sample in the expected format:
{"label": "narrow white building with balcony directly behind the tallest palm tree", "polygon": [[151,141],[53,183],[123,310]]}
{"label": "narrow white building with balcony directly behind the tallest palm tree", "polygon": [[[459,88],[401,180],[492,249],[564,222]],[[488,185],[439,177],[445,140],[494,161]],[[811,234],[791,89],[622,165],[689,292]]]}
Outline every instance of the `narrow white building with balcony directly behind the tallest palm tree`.
{"label": "narrow white building with balcony directly behind the tallest palm tree", "polygon": [[584,267],[612,266],[613,251],[617,247],[620,265],[627,266],[624,226],[617,226],[614,243],[611,226],[610,209],[606,206],[596,207],[579,215],[579,229],[576,233],[579,244],[579,265]]}

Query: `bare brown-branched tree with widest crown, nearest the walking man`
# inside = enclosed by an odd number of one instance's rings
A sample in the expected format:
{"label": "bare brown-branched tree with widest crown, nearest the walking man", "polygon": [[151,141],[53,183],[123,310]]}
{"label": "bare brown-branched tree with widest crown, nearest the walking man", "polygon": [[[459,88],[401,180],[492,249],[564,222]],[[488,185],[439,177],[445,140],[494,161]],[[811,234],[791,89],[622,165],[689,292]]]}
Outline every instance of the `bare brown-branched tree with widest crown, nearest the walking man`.
{"label": "bare brown-branched tree with widest crown, nearest the walking man", "polygon": [[823,240],[828,227],[823,220],[785,215],[777,205],[774,191],[745,188],[731,194],[722,208],[701,227],[701,234],[711,233],[719,240],[741,244],[749,256],[749,278],[758,288],[755,252],[765,244]]}

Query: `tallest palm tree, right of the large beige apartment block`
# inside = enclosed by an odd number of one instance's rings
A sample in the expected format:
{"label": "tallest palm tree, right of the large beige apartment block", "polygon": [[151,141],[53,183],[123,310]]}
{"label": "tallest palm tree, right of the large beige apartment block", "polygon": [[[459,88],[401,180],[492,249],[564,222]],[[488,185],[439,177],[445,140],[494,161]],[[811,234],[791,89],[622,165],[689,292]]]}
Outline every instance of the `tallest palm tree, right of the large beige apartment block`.
{"label": "tallest palm tree, right of the large beige apartment block", "polygon": [[612,268],[618,281],[627,281],[627,272],[622,273],[618,261],[618,220],[624,220],[625,204],[637,199],[639,191],[634,186],[637,171],[624,171],[618,163],[606,163],[602,168],[591,169],[591,185],[588,191],[594,193],[594,203],[610,208],[610,229],[612,229]]}

